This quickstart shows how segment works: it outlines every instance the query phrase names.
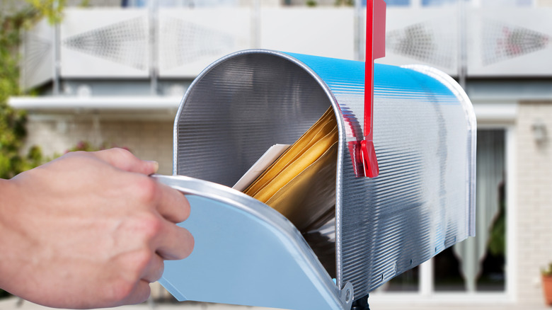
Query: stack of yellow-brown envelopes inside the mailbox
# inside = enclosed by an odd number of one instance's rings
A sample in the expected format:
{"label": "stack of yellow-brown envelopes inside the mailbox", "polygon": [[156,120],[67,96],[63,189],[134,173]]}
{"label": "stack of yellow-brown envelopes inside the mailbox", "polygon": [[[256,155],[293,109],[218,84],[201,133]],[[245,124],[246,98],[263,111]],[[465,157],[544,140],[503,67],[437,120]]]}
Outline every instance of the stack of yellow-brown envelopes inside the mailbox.
{"label": "stack of yellow-brown envelopes inside the mailbox", "polygon": [[272,163],[243,193],[265,202],[300,231],[332,217],[338,126],[333,108]]}

